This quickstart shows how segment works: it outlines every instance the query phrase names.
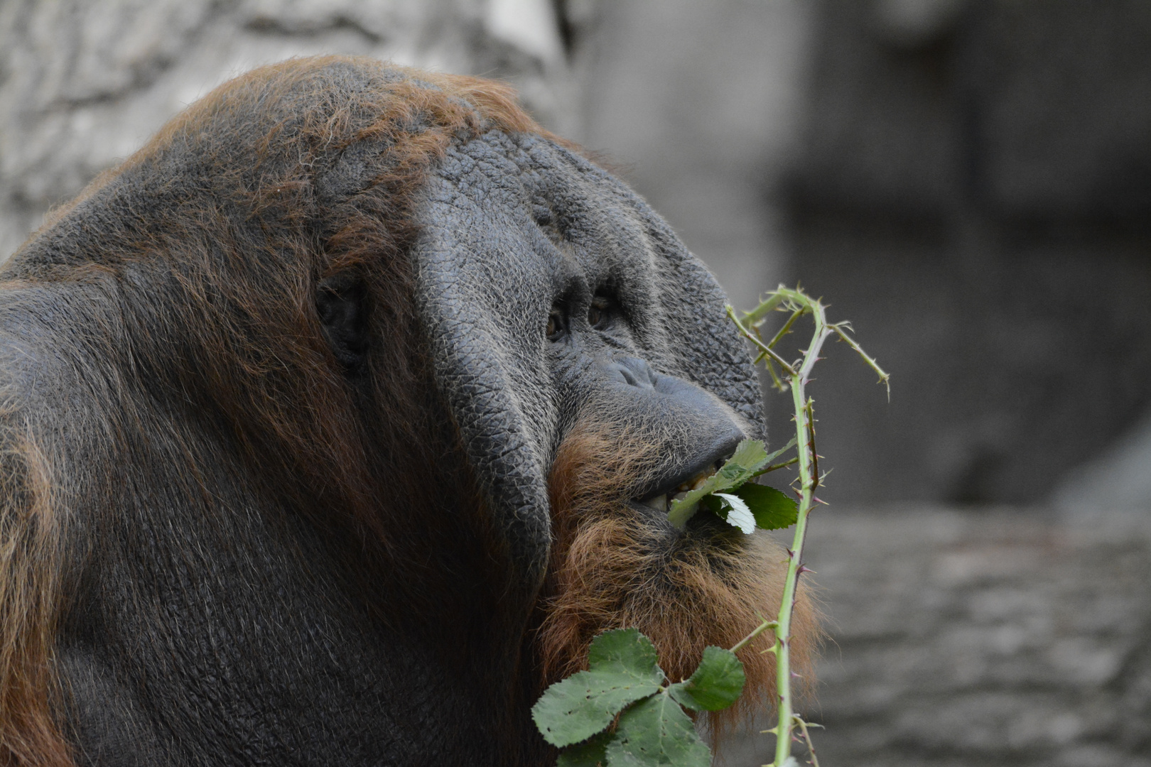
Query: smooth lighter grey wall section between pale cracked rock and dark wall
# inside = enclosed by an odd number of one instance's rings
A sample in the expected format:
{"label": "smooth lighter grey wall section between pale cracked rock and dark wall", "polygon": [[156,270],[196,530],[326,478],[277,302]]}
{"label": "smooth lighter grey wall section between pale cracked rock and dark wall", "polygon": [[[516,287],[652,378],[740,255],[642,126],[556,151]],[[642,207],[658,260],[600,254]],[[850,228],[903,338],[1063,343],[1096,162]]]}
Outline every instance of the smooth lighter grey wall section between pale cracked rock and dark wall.
{"label": "smooth lighter grey wall section between pale cracked rock and dark wall", "polygon": [[608,154],[740,308],[788,278],[770,186],[798,146],[810,22],[803,1],[605,2],[580,52],[579,139]]}

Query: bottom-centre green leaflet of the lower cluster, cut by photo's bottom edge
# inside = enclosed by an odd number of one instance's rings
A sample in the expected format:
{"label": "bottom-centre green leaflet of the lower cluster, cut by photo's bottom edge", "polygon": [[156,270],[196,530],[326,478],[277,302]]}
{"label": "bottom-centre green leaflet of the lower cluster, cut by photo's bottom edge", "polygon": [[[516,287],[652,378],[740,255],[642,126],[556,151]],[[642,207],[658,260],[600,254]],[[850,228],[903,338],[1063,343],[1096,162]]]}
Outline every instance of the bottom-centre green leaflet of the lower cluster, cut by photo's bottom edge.
{"label": "bottom-centre green leaflet of the lower cluster, cut by photo's bottom edge", "polygon": [[651,696],[619,718],[608,744],[608,767],[710,767],[711,751],[666,692]]}

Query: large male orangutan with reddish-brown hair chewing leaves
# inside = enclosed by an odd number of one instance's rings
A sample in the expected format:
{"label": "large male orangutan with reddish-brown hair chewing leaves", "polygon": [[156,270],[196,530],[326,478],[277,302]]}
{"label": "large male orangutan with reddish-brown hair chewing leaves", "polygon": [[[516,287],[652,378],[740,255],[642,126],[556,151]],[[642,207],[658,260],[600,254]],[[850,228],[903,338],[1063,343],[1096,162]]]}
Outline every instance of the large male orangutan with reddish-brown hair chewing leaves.
{"label": "large male orangutan with reddish-brown hair chewing leaves", "polygon": [[0,762],[550,764],[597,632],[679,678],[778,604],[665,514],[764,436],[723,304],[504,85],[221,86],[0,270]]}

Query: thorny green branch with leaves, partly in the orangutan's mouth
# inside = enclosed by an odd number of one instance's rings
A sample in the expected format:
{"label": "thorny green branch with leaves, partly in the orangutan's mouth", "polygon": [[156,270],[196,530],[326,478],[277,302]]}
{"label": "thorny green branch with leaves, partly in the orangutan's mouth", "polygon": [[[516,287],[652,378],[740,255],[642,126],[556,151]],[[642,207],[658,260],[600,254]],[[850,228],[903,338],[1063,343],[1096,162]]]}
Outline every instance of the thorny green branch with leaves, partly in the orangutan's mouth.
{"label": "thorny green branch with leaves, partly in the orangutan's mouth", "polygon": [[[671,767],[706,767],[711,753],[685,713],[721,711],[731,706],[744,688],[744,667],[735,652],[760,632],[771,629],[775,644],[764,652],[776,657],[776,695],[778,721],[769,733],[776,736],[775,760],[768,767],[798,765],[791,756],[793,734],[806,742],[811,764],[818,767],[808,734],[810,727],[794,712],[791,672],[791,621],[795,589],[807,537],[807,519],[821,484],[820,455],[815,452],[815,408],[806,392],[811,369],[820,351],[832,336],[847,343],[887,384],[889,376],[848,335],[847,322],[829,323],[824,306],[799,287],[780,285],[750,312],[737,316],[729,306],[727,315],[739,332],[759,350],[755,362],[763,362],[773,386],[791,391],[795,436],[782,448],[768,453],[763,443],[745,439],[734,454],[711,475],[701,474],[680,485],[668,499],[668,520],[679,529],[701,511],[718,515],[745,534],[756,528],[775,530],[795,526],[787,550],[787,573],[783,600],[775,620],[765,620],[731,650],[709,646],[695,672],[681,682],[671,682],[661,670],[656,650],[635,629],[607,631],[592,643],[588,669],[578,672],[548,688],[532,708],[536,727],[552,745],[565,747],[559,767],[625,767],[633,765],[670,765]],[[773,312],[788,317],[769,339],[763,325]],[[776,351],[792,331],[795,321],[810,315],[815,325],[811,340],[798,360],[787,362]],[[889,385],[890,396],[890,385]],[[778,461],[787,451],[795,455]],[[777,462],[778,461],[778,462]],[[793,482],[798,501],[785,493],[752,482],[769,471],[796,466]]]}

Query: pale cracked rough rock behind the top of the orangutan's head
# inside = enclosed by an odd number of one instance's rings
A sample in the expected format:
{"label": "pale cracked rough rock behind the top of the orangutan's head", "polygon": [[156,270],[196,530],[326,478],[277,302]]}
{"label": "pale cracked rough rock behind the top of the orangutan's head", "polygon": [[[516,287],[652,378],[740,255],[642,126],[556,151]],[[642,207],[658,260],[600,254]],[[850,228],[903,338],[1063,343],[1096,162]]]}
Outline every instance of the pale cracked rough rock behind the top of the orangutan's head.
{"label": "pale cracked rough rock behind the top of the orangutan's head", "polygon": [[185,105],[290,56],[366,54],[505,77],[544,123],[572,132],[574,84],[551,8],[548,0],[7,0],[0,260],[51,206]]}

